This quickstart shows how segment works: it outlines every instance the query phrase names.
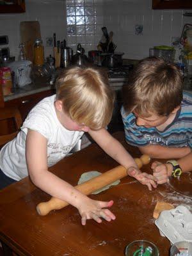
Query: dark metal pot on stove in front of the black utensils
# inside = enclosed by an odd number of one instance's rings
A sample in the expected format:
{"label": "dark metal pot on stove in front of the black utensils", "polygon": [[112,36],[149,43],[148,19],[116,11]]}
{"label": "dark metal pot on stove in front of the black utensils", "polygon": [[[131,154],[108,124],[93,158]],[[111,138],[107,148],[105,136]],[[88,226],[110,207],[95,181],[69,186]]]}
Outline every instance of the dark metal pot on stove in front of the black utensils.
{"label": "dark metal pot on stove in front of the black utensils", "polygon": [[124,52],[118,53],[104,53],[102,56],[102,66],[108,68],[122,67],[122,56]]}

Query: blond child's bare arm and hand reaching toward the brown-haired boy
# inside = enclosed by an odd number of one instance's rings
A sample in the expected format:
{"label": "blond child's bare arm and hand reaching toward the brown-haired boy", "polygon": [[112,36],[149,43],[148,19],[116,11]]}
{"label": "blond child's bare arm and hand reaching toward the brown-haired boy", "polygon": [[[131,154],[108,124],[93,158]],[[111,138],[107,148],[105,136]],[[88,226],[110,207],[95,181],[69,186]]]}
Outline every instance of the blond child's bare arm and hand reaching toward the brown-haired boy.
{"label": "blond child's bare arm and hand reaching toward the brown-haired boy", "polygon": [[154,179],[153,175],[142,173],[138,170],[138,166],[131,155],[106,129],[90,130],[89,134],[109,156],[127,169],[127,174],[147,185],[149,190],[152,189],[152,186],[156,188],[156,179]]}

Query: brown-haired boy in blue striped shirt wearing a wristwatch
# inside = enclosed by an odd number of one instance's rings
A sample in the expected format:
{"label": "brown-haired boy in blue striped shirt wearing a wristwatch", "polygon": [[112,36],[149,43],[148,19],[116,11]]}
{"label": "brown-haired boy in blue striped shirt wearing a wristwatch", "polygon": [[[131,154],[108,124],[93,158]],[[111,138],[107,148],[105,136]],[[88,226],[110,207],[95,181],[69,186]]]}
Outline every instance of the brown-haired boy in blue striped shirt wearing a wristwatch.
{"label": "brown-haired boy in blue striped shirt wearing a wristwatch", "polygon": [[142,60],[123,87],[123,97],[127,143],[150,157],[172,159],[152,163],[157,184],[191,171],[192,94],[182,91],[178,68],[160,58]]}

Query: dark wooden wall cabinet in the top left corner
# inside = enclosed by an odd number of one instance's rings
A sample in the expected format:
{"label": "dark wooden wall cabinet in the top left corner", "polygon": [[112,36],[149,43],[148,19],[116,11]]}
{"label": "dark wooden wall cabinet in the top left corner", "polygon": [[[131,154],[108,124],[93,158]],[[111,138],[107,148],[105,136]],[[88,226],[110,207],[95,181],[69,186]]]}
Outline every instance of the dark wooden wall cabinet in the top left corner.
{"label": "dark wooden wall cabinet in the top left corner", "polygon": [[[3,2],[3,1],[1,1]],[[6,1],[4,1],[6,2]],[[12,0],[7,1],[11,4],[1,3],[0,4],[0,13],[22,13],[26,12],[25,0]]]}

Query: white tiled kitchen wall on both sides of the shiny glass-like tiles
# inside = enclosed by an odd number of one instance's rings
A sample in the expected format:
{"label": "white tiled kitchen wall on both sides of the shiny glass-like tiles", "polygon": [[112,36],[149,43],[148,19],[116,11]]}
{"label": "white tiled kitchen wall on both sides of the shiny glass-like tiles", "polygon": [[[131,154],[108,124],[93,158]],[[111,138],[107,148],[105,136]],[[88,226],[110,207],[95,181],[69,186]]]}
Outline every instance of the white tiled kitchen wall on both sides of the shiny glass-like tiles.
{"label": "white tiled kitchen wall on both sides of the shiny glass-like tiles", "polygon": [[[180,36],[184,24],[192,24],[192,17],[183,16],[190,10],[152,10],[152,0],[95,0],[95,4],[98,42],[101,28],[106,26],[108,32],[114,32],[116,51],[124,52],[124,58],[141,59],[148,56],[148,49],[154,45],[171,45],[172,36]],[[24,20],[40,22],[44,46],[45,37],[54,32],[57,40],[63,40],[67,35],[66,2],[26,0],[26,13],[0,14],[0,35],[9,36],[13,56],[19,52],[19,23]],[[134,35],[136,24],[143,25],[143,35]],[[45,47],[45,56],[49,54],[52,47]]]}

